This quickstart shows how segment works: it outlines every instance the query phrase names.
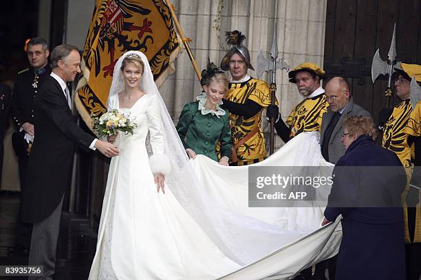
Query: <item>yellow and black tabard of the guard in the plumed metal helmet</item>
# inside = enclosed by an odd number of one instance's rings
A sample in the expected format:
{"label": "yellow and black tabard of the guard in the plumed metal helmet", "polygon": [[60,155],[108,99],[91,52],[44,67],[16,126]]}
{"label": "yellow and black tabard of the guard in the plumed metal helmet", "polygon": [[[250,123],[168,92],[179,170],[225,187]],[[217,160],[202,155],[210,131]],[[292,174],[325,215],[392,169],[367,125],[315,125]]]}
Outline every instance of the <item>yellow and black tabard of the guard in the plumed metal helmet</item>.
{"label": "yellow and black tabard of the guard in the plumed metal helmet", "polygon": [[[249,78],[245,82],[230,82],[226,99],[238,104],[244,104],[247,100],[252,100],[266,108],[270,105],[270,89],[266,82],[255,78]],[[253,133],[250,139],[237,147],[235,151],[238,160],[237,165],[248,165],[263,161],[266,158],[265,141],[261,129],[261,111],[248,118],[230,113],[234,147],[249,133]],[[231,160],[235,161],[234,159]]]}

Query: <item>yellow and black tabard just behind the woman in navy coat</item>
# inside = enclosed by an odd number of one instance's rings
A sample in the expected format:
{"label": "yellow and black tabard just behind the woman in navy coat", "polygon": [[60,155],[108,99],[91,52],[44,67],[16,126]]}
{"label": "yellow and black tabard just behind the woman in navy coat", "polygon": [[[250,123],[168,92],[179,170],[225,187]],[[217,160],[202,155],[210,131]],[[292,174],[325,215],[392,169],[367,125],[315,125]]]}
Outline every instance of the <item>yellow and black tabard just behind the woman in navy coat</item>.
{"label": "yellow and black tabard just behind the woman in navy coat", "polygon": [[383,128],[382,147],[394,152],[404,167],[411,166],[411,150],[407,133],[404,132],[412,112],[411,102],[404,100],[393,107],[393,111]]}

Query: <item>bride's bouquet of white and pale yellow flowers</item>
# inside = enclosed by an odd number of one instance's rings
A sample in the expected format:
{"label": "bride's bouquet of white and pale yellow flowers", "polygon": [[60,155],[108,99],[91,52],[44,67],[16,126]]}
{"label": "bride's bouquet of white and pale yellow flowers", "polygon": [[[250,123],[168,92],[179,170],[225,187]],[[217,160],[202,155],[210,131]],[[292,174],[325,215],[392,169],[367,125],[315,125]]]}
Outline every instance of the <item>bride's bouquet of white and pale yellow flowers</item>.
{"label": "bride's bouquet of white and pale yellow flowers", "polygon": [[133,129],[138,124],[134,123],[129,117],[129,115],[122,114],[117,109],[103,113],[100,117],[91,115],[92,128],[99,137],[115,135],[118,131],[133,135]]}

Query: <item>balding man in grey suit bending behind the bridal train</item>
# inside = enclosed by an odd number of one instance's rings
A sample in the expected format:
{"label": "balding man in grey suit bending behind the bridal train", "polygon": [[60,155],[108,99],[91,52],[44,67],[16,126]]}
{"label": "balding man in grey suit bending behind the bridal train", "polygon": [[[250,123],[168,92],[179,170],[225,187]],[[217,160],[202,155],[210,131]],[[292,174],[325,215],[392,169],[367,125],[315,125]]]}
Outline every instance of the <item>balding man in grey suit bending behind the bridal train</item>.
{"label": "balding man in grey suit bending behind the bridal train", "polygon": [[326,161],[336,163],[345,154],[345,147],[341,143],[342,121],[350,116],[371,115],[354,103],[349,84],[342,77],[334,77],[326,84],[325,95],[329,107],[323,114],[321,124],[321,151]]}

